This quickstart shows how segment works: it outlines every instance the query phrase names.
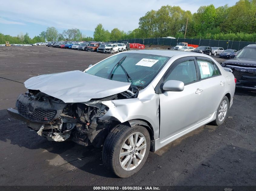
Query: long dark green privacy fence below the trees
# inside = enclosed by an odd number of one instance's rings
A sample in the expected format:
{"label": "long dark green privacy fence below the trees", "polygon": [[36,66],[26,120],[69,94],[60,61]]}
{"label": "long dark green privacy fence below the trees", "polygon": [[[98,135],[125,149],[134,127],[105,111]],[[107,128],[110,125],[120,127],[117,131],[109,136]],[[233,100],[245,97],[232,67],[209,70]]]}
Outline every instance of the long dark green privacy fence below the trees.
{"label": "long dark green privacy fence below the trees", "polygon": [[198,46],[217,46],[224,49],[236,49],[241,50],[244,46],[249,44],[256,44],[256,42],[245,42],[245,41],[234,41],[234,40],[211,40],[211,39],[189,39],[189,38],[145,38],[145,39],[125,39],[125,40],[115,40],[110,41],[112,43],[121,43],[122,41],[128,41],[129,43],[140,43],[144,45],[166,45],[166,46],[176,46],[177,43],[186,42],[188,44],[195,44]]}

